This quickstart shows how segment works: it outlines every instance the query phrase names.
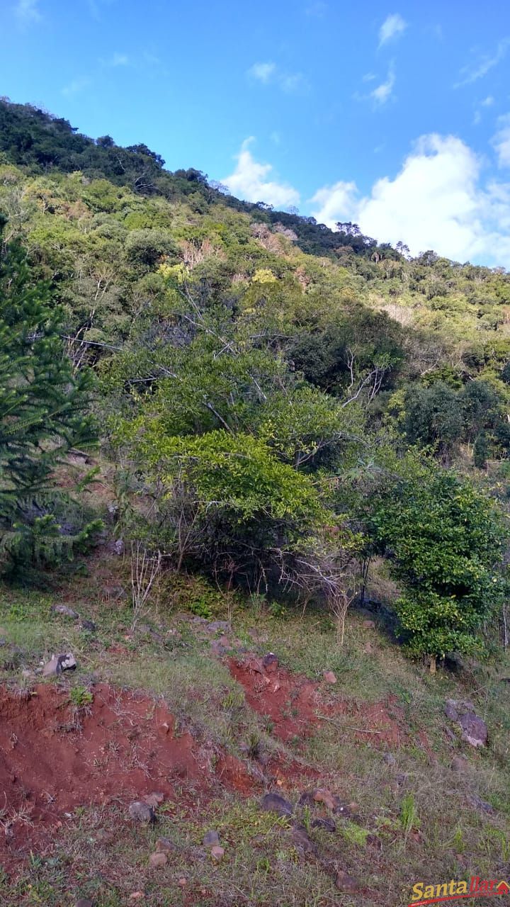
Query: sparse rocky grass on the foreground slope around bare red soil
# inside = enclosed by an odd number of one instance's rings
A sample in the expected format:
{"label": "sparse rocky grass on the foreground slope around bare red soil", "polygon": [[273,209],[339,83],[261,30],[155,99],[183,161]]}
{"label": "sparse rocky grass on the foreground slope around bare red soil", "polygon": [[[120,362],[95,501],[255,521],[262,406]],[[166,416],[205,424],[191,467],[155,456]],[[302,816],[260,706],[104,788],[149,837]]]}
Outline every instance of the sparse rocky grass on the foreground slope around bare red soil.
{"label": "sparse rocky grass on the foreground slope around bare red soil", "polygon": [[[260,746],[285,750],[318,766],[321,785],[358,805],[349,819],[337,819],[337,833],[311,828],[318,807],[298,814],[319,849],[303,856],[292,843],[288,823],[260,811],[257,797],[225,791],[200,808],[172,803],[159,811],[157,825],[135,828],[120,807],[76,810],[44,853],[34,853],[20,878],[0,873],[0,901],[19,907],[72,907],[78,896],[95,907],[121,907],[132,892],[144,892],[149,907],[189,904],[211,907],[329,907],[342,903],[395,907],[407,902],[417,881],[441,883],[470,874],[505,878],[510,859],[510,792],[507,783],[510,697],[501,681],[507,669],[473,668],[454,675],[440,669],[430,678],[404,658],[384,628],[348,616],[346,641],[338,649],[327,616],[274,609],[265,600],[221,596],[203,580],[168,582],[132,630],[129,598],[109,591],[125,586],[122,559],[91,563],[88,575],[75,573],[60,588],[44,593],[5,589],[0,595],[0,680],[24,688],[56,651],[71,650],[78,662],[64,676],[75,709],[90,707],[93,681],[144,689],[163,697],[182,727],[199,739],[246,758]],[[55,614],[65,603],[80,620]],[[198,602],[198,604],[197,604]],[[197,613],[198,612],[198,613]],[[282,746],[270,723],[248,707],[244,691],[211,652],[211,634],[200,618],[228,619],[232,645],[258,655],[272,650],[280,663],[319,682],[326,703],[347,697],[361,708],[394,697],[402,710],[407,741],[385,761],[375,740],[349,729],[349,717],[323,721],[313,736]],[[196,621],[194,617],[198,617]],[[322,682],[333,670],[338,684]],[[40,680],[40,677],[38,678]],[[54,681],[48,681],[54,682]],[[489,745],[474,751],[444,717],[447,697],[471,698],[489,727]],[[291,708],[291,704],[289,705]],[[358,717],[357,717],[358,722]],[[342,723],[343,722],[343,723]],[[424,746],[421,732],[427,734]],[[451,768],[453,756],[467,757],[464,771]],[[296,803],[299,790],[284,793]],[[487,813],[476,797],[494,808]],[[314,812],[316,810],[316,812]],[[225,858],[213,863],[201,845],[214,828]],[[158,835],[178,846],[162,870],[148,858]],[[334,886],[335,869],[357,876],[362,891],[348,895]],[[183,883],[182,880],[185,880]]]}

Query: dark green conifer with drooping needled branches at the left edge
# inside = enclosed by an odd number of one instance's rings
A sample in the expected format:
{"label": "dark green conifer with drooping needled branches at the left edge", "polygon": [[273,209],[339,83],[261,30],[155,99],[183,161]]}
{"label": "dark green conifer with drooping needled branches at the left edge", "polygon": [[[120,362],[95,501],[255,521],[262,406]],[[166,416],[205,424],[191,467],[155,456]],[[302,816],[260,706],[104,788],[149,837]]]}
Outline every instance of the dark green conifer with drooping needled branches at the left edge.
{"label": "dark green conifer with drooping needled branches at the left edge", "polygon": [[54,470],[94,438],[91,375],[73,374],[61,332],[48,286],[11,245],[0,261],[0,572],[56,561],[98,528],[58,519]]}

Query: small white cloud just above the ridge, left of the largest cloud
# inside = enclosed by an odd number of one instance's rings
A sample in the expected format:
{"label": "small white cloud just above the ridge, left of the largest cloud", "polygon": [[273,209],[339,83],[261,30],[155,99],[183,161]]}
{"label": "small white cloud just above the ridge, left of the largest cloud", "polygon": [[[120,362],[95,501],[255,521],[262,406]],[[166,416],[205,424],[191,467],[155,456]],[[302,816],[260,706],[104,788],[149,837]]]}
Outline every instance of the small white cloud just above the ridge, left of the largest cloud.
{"label": "small white cloud just above the ridge, left of the largest cloud", "polygon": [[299,192],[289,183],[271,180],[272,164],[255,161],[250,151],[253,136],[245,139],[240,146],[235,170],[221,179],[232,195],[247,201],[265,201],[275,208],[289,208],[299,204]]}

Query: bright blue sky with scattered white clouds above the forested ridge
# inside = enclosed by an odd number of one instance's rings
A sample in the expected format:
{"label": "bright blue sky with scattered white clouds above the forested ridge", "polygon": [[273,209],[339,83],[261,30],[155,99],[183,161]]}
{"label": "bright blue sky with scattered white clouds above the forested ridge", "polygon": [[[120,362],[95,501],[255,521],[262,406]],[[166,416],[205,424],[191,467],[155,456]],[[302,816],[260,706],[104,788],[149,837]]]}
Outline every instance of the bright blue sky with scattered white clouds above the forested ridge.
{"label": "bright blue sky with scattered white clouds above the forested ridge", "polygon": [[500,0],[4,0],[0,93],[235,195],[510,268]]}

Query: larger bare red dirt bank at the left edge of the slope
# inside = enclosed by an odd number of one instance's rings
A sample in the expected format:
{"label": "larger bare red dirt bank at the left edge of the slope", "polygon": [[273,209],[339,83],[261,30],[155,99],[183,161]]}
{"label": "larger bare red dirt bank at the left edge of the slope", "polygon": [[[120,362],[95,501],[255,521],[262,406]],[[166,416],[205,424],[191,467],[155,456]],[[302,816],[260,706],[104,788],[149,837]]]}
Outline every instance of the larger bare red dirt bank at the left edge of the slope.
{"label": "larger bare red dirt bank at the left edge of the slope", "polygon": [[41,684],[23,697],[0,689],[0,809],[10,834],[27,837],[15,819],[20,810],[40,827],[77,805],[129,803],[156,791],[173,799],[174,785],[194,801],[219,783],[239,789],[241,779],[249,792],[242,763],[225,757],[229,771],[217,775],[211,750],[189,733],[175,736],[174,727],[172,714],[150,697],[103,684],[78,715],[63,689]]}

